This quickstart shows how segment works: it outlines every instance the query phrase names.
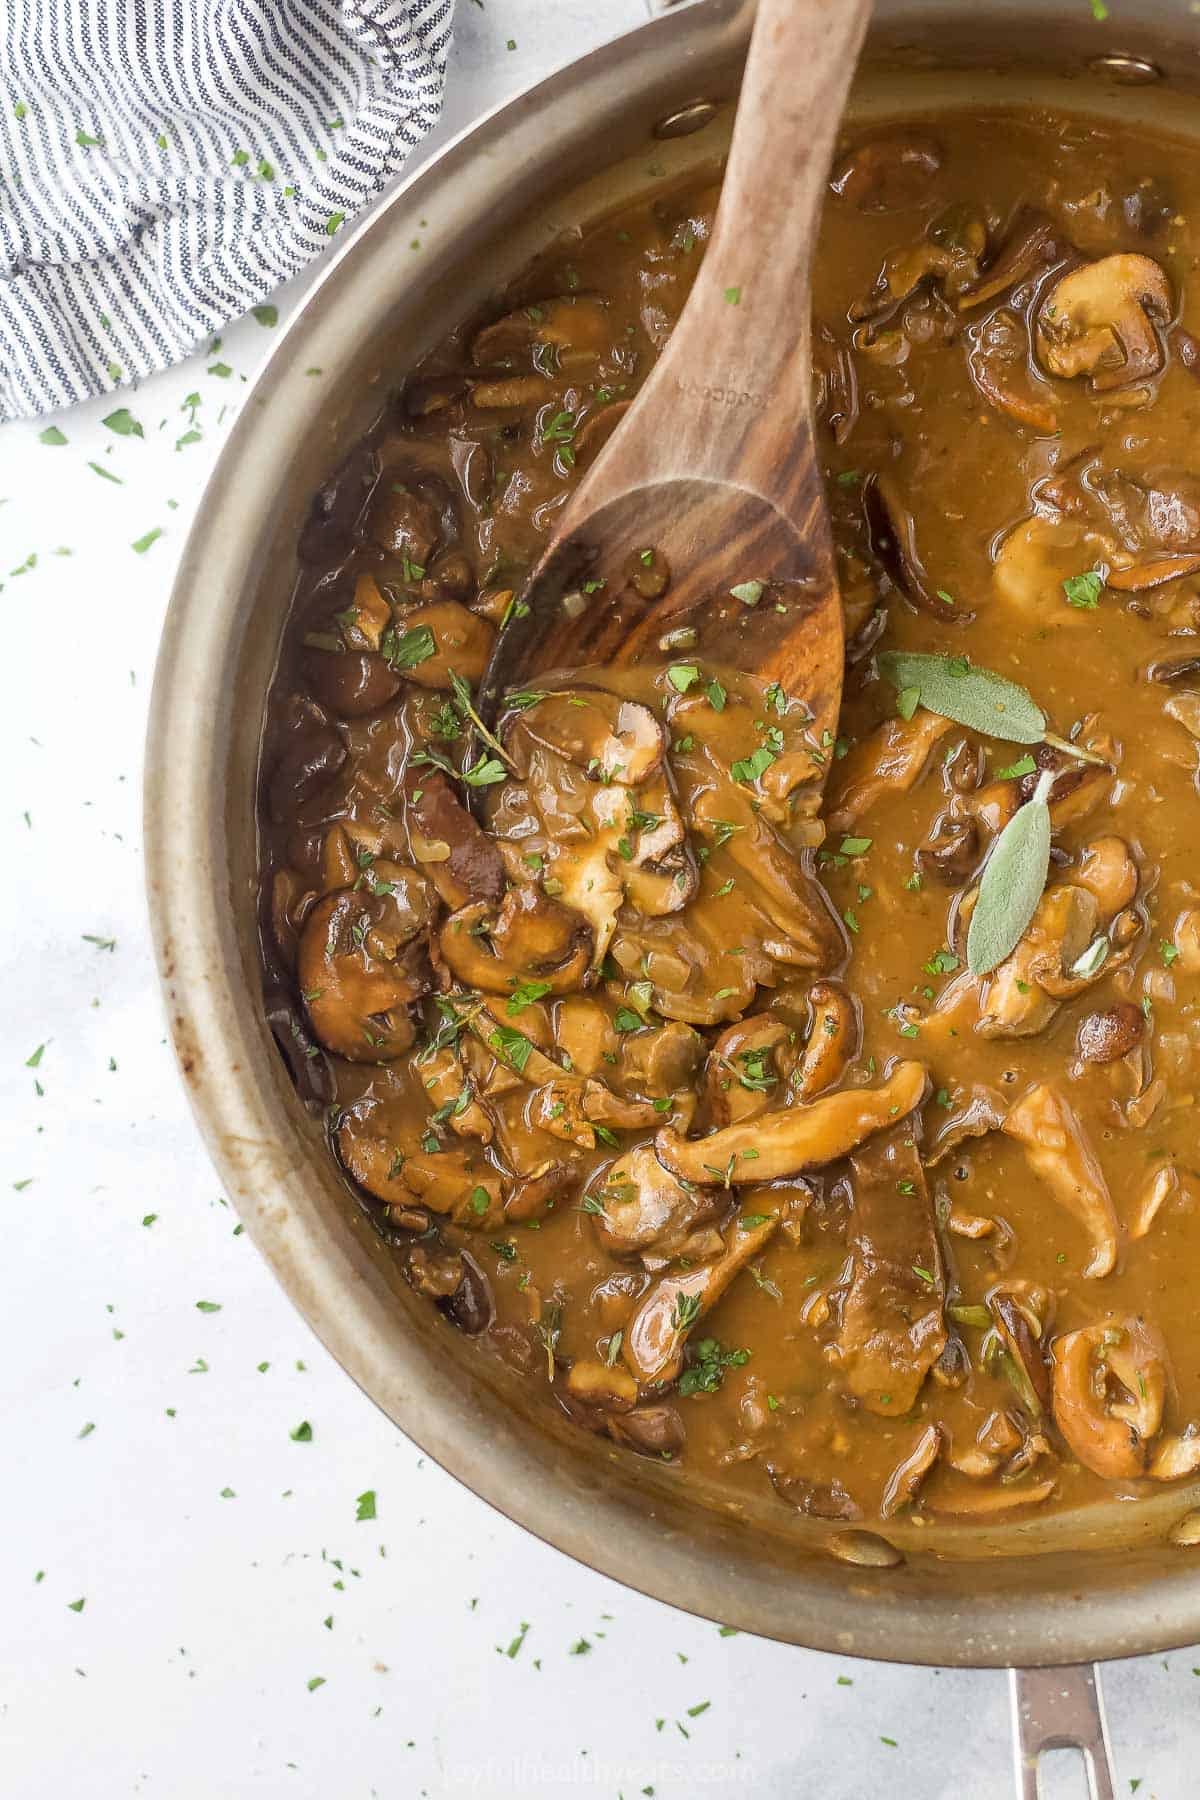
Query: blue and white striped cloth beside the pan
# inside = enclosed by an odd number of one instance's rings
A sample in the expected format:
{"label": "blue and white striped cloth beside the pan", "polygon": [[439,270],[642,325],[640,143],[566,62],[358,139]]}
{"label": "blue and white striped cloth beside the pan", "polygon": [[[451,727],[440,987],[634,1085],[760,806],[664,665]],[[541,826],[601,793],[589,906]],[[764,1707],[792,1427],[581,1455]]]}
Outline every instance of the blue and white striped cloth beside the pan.
{"label": "blue and white striped cloth beside the pan", "polygon": [[0,421],[178,362],[441,108],[453,0],[0,0]]}

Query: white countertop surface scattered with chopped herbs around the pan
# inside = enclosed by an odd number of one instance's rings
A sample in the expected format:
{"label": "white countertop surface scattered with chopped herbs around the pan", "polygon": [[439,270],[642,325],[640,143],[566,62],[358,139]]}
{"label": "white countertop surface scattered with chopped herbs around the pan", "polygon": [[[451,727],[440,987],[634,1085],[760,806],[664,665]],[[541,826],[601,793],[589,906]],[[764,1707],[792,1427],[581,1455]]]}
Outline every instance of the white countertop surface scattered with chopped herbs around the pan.
{"label": "white countertop surface scattered with chopped herbs around the pan", "polygon": [[[461,0],[441,133],[642,14]],[[576,1568],[423,1460],[236,1233],[166,1048],[140,763],[175,563],[272,335],[58,416],[65,445],[0,430],[4,1795],[1007,1796],[1002,1674],[721,1636]],[[1195,1663],[1108,1670],[1121,1795],[1200,1789]]]}

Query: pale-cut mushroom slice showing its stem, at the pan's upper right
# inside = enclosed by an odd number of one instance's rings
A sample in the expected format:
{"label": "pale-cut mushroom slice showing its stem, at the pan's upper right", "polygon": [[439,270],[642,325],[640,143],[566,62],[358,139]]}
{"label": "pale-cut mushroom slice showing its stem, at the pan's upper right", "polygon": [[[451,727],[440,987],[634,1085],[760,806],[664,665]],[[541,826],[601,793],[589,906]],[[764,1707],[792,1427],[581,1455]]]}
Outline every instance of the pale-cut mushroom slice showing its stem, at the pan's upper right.
{"label": "pale-cut mushroom slice showing its stem, at the pan's upper right", "polygon": [[1038,358],[1051,374],[1090,376],[1103,394],[1162,367],[1159,329],[1175,301],[1155,261],[1128,252],[1072,268],[1038,311]]}

